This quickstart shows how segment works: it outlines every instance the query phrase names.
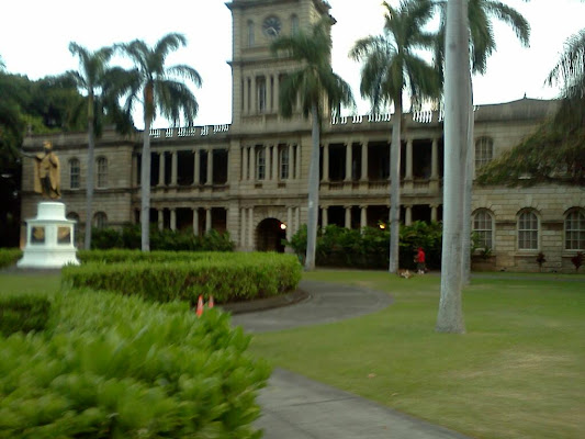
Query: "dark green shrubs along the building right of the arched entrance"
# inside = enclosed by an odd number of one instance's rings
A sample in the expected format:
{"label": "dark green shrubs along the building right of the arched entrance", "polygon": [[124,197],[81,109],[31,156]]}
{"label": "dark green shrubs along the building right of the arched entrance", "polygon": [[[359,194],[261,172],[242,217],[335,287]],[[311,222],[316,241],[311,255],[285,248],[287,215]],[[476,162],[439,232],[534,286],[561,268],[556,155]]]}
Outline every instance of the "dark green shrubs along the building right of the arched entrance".
{"label": "dark green shrubs along the building right of the arched entrance", "polygon": [[[414,252],[423,247],[427,255],[427,267],[440,268],[441,224],[415,222],[401,227],[400,260],[402,267],[414,269]],[[382,269],[389,262],[390,232],[379,227],[361,230],[328,225],[318,230],[317,264],[326,267],[355,267]],[[285,245],[302,257],[306,247],[306,226],[302,226]]]}

